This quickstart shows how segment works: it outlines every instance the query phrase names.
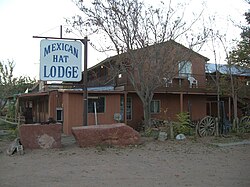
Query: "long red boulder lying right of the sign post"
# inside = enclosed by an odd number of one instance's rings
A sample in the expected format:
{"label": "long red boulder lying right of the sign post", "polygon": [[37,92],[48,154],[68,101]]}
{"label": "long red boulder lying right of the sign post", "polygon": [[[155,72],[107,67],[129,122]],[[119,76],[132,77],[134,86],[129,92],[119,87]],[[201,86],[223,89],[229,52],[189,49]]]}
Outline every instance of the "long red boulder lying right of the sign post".
{"label": "long red boulder lying right of the sign post", "polygon": [[123,123],[72,127],[72,134],[80,147],[127,146],[140,143],[140,134]]}

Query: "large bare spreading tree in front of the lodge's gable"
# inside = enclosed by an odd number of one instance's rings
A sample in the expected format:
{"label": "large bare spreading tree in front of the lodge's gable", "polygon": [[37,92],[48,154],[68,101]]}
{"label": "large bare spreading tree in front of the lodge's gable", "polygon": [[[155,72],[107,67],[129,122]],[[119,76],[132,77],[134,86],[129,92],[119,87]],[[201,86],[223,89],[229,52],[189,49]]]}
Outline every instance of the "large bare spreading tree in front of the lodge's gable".
{"label": "large bare spreading tree in front of the lodge's gable", "polygon": [[[181,60],[191,57],[190,50],[180,52],[182,47],[172,45],[172,41],[189,37],[192,48],[203,44],[207,36],[206,30],[193,37],[190,34],[201,14],[187,23],[183,5],[174,10],[171,1],[167,5],[161,3],[160,8],[154,8],[139,0],[93,0],[91,5],[80,0],[76,5],[85,17],[78,15],[68,20],[80,32],[86,26],[92,33],[102,35],[107,44],[105,51],[116,51],[118,72],[127,73],[141,99],[146,126],[150,125],[155,90],[178,73],[176,67]],[[178,14],[178,10],[182,12]]]}

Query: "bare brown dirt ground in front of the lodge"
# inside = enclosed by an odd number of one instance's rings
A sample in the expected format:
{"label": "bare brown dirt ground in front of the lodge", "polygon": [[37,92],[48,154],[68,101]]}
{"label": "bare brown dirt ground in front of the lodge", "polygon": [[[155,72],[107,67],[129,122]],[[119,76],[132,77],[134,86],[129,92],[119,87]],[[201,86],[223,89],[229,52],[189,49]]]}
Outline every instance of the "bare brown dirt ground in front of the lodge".
{"label": "bare brown dirt ground in front of the lodge", "polygon": [[9,142],[2,141],[0,186],[249,187],[250,144],[211,142],[231,139],[145,138],[142,145],[126,148],[80,148],[68,139],[60,149],[25,150],[13,156],[5,154]]}

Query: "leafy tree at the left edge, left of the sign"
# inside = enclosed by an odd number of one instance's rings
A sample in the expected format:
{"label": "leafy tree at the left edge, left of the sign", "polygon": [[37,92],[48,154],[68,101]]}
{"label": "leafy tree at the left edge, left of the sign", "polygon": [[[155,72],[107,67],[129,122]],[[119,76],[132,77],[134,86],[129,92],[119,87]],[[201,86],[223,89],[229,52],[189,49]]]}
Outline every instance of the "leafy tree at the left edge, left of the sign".
{"label": "leafy tree at the left edge, left of the sign", "polygon": [[30,77],[14,77],[13,61],[0,61],[0,111],[5,107],[8,98],[15,94],[24,93],[27,88],[31,88],[35,80]]}

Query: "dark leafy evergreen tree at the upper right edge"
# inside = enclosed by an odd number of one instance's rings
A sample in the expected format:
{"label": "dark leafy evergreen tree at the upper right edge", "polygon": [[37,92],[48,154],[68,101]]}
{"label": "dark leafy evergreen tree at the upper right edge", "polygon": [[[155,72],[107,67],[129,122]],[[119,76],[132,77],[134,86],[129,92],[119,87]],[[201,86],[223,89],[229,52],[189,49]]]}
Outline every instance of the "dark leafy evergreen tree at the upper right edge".
{"label": "dark leafy evergreen tree at the upper right edge", "polygon": [[[250,4],[250,1],[248,1]],[[247,26],[242,27],[241,40],[230,52],[230,60],[234,64],[250,67],[250,11],[246,12],[245,19]]]}

